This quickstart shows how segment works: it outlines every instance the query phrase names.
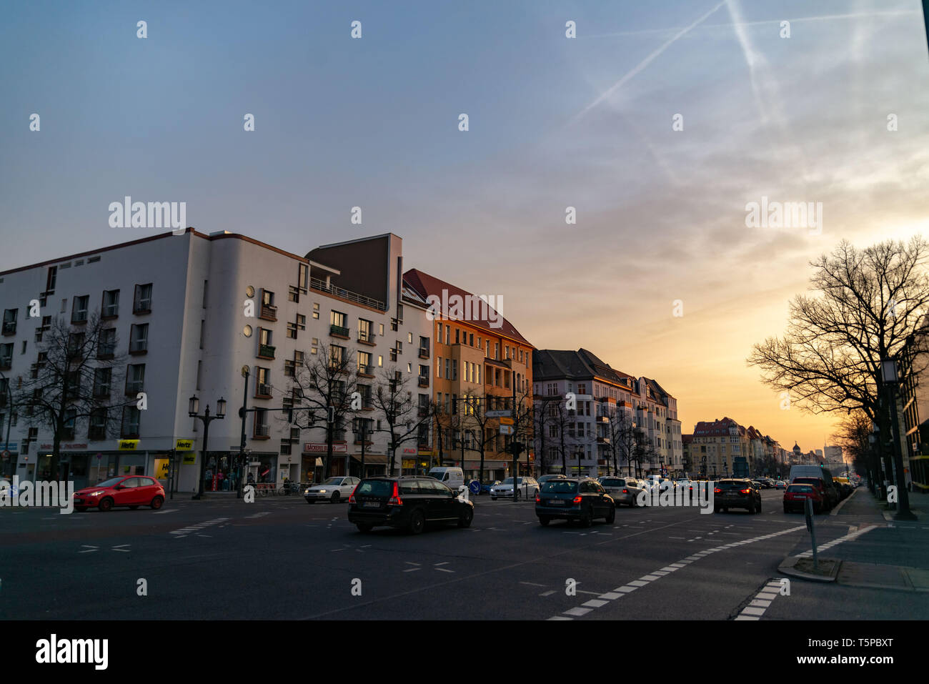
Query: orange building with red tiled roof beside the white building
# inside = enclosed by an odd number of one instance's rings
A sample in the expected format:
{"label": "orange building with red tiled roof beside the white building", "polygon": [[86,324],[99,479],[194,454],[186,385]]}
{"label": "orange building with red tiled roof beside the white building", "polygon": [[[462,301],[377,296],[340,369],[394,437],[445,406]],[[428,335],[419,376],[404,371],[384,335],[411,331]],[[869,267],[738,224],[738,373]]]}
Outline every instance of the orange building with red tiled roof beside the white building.
{"label": "orange building with red tiled roof beside the white building", "polygon": [[502,296],[473,295],[416,269],[403,281],[433,306],[433,463],[440,459],[445,466],[462,467],[465,479],[477,479],[483,448],[483,480],[509,477],[512,438],[502,435],[499,418],[486,412],[512,409],[515,395],[521,416],[516,439],[528,445],[519,457],[520,472],[529,473],[535,348],[502,315]]}

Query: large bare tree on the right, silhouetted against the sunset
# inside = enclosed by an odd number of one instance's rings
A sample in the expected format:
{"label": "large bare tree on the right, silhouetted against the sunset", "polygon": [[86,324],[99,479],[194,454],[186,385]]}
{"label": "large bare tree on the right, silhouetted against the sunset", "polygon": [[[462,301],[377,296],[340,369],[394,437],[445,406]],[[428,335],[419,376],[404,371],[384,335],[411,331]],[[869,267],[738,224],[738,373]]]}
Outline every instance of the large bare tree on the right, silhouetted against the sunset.
{"label": "large bare tree on the right, silhouetted against the sunset", "polygon": [[[906,346],[911,372],[926,367],[927,256],[920,237],[863,250],[843,241],[811,263],[817,295],[794,297],[786,334],[755,345],[748,362],[789,405],[813,414],[861,411],[890,434],[881,362]],[[870,470],[874,481],[877,464]]]}

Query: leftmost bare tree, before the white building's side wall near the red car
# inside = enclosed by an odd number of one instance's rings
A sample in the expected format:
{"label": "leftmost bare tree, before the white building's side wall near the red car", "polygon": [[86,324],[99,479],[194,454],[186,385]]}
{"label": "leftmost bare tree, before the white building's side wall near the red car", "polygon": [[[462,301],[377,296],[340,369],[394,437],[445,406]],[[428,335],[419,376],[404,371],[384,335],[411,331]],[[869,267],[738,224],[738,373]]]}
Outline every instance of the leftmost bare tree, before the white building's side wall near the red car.
{"label": "leftmost bare tree, before the white building's side wall near the red car", "polygon": [[61,442],[74,439],[78,421],[87,421],[91,440],[116,438],[123,409],[147,407],[140,390],[126,385],[124,397],[118,389],[123,384],[116,369],[126,358],[116,354],[118,343],[115,328],[98,311],[86,322],[69,323],[57,316],[42,333],[31,374],[20,377],[14,404],[24,407],[30,424],[52,431],[49,470],[54,480],[59,478]]}

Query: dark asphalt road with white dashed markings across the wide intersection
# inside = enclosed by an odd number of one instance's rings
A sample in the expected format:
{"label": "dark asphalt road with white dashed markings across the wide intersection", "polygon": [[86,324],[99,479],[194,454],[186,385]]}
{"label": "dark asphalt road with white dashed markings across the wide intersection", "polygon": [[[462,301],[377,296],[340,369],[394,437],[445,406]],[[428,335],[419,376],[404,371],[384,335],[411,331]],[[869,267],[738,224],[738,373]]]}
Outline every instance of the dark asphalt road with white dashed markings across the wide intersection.
{"label": "dark asphalt road with white dashed markings across the wide intersection", "polygon": [[[726,620],[763,604],[762,620],[929,617],[929,593],[793,579],[789,596],[771,598],[779,562],[809,548],[782,495],[763,492],[757,515],[621,507],[614,524],[588,529],[543,528],[531,503],[482,496],[469,529],[417,536],[362,534],[346,504],[295,497],[0,509],[0,618]],[[817,517],[819,544],[871,526],[830,556],[860,559],[871,545],[865,557],[882,562],[927,547],[926,525],[858,518]],[[769,603],[752,603],[760,592]]]}

